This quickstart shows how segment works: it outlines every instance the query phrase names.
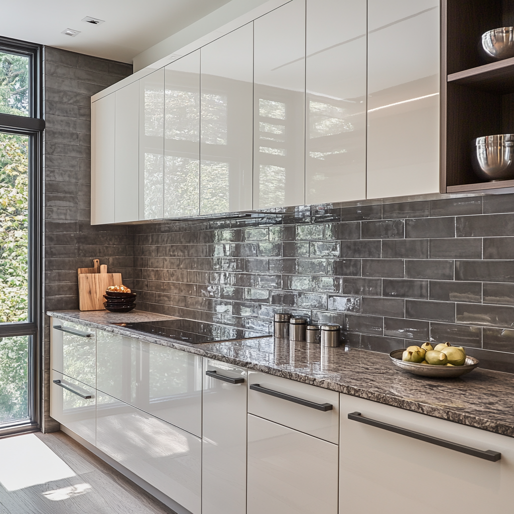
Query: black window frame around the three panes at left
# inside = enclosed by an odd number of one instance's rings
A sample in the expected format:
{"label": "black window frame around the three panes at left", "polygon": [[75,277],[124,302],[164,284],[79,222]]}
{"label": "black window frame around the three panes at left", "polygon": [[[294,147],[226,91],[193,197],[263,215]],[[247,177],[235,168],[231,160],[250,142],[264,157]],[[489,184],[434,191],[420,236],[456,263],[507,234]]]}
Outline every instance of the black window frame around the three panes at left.
{"label": "black window frame around the three panes at left", "polygon": [[0,113],[0,132],[29,138],[29,218],[28,218],[28,320],[0,323],[0,338],[29,336],[28,414],[29,419],[0,426],[0,437],[40,430],[42,414],[42,163],[43,163],[43,47],[35,43],[3,38],[0,52],[29,58],[29,116]]}

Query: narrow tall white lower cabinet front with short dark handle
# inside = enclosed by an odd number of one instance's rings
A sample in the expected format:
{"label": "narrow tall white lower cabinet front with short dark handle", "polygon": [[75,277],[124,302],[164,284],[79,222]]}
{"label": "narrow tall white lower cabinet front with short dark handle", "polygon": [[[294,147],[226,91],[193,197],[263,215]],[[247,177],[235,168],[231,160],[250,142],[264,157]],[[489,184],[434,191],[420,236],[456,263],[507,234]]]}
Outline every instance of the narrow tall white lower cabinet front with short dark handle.
{"label": "narrow tall white lower cabinet front with short dark handle", "polygon": [[202,512],[246,511],[246,370],[204,358]]}

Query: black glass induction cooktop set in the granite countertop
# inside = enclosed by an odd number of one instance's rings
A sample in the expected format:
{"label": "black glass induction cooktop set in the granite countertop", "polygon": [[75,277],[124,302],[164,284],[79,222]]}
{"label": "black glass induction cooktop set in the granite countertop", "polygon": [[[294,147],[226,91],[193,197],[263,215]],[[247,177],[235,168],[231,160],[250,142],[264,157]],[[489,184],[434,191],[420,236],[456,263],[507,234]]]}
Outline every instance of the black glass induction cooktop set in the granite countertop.
{"label": "black glass induction cooktop set in the granite countertop", "polygon": [[132,328],[138,332],[169,337],[176,341],[193,344],[269,336],[269,334],[250,331],[245,328],[234,328],[226,325],[216,325],[215,323],[187,319],[113,323],[113,325]]}

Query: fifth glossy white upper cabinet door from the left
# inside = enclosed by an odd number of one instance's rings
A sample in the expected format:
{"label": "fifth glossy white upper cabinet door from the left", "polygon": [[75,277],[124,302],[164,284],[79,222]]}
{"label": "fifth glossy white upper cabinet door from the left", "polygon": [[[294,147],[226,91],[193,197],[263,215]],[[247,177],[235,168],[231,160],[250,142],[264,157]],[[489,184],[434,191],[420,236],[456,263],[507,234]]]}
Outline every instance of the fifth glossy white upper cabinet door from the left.
{"label": "fifth glossy white upper cabinet door from the left", "polygon": [[200,214],[252,208],[253,23],[201,49]]}

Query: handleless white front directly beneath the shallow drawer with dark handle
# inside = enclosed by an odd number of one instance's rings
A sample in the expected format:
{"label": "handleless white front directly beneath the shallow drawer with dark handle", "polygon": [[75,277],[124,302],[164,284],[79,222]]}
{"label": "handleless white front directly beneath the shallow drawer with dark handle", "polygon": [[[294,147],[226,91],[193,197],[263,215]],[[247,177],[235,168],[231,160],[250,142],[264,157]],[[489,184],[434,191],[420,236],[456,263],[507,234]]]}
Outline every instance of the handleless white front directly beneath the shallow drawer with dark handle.
{"label": "handleless white front directly beneath the shallow drawer with dark handle", "polygon": [[247,514],[337,514],[338,454],[337,445],[248,414]]}

